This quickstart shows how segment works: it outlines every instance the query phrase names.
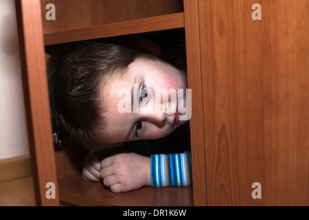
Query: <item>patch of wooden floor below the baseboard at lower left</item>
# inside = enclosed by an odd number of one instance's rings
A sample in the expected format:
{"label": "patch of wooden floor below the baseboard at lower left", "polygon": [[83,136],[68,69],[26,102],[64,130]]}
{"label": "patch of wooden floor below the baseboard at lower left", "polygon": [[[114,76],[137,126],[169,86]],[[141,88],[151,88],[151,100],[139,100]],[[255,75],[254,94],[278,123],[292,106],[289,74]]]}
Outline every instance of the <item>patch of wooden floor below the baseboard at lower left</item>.
{"label": "patch of wooden floor below the baseboard at lower left", "polygon": [[32,176],[0,182],[0,206],[36,206]]}

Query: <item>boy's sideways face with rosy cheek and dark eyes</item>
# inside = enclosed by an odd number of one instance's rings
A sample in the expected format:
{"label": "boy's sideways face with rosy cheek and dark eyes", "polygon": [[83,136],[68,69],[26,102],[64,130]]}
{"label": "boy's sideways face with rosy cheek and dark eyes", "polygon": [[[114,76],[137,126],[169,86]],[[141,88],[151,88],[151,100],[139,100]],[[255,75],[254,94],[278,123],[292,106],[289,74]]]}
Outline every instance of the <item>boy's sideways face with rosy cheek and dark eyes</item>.
{"label": "boy's sideways face with rosy cheek and dark eyes", "polygon": [[99,131],[99,141],[165,137],[190,119],[182,117],[185,109],[189,111],[186,89],[185,76],[172,65],[137,59],[124,76],[102,89],[106,125]]}

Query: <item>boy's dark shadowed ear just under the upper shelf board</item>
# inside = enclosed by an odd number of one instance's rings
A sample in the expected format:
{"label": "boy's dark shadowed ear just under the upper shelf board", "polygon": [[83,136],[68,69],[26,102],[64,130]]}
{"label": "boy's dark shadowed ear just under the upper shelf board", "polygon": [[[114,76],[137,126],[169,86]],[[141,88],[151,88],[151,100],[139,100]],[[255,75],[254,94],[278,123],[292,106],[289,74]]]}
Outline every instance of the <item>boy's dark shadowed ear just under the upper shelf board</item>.
{"label": "boy's dark shadowed ear just under the upper shelf board", "polygon": [[142,36],[132,36],[128,41],[128,46],[138,52],[151,54],[159,57],[161,55],[161,48],[153,41]]}

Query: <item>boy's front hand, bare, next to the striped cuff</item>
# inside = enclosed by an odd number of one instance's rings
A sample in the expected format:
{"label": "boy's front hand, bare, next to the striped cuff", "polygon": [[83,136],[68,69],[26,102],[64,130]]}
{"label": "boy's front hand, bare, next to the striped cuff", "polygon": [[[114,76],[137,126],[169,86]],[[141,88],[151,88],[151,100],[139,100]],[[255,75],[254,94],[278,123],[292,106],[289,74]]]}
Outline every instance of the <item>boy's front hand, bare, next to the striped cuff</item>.
{"label": "boy's front hand, bare, next to the striped cuff", "polygon": [[151,186],[150,164],[150,157],[120,153],[102,160],[100,174],[112,192],[128,192]]}

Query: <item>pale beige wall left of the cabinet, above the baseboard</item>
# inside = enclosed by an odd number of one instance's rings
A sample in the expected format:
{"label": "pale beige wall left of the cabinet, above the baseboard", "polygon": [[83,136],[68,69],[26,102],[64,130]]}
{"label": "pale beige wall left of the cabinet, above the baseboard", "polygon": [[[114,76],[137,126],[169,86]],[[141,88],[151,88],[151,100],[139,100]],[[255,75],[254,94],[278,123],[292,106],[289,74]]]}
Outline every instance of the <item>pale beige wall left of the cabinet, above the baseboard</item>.
{"label": "pale beige wall left of the cabinet, above the baseboard", "polygon": [[15,5],[0,0],[0,159],[29,153]]}

